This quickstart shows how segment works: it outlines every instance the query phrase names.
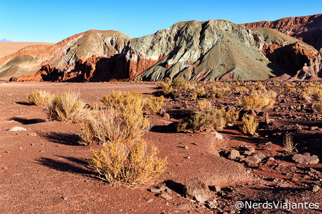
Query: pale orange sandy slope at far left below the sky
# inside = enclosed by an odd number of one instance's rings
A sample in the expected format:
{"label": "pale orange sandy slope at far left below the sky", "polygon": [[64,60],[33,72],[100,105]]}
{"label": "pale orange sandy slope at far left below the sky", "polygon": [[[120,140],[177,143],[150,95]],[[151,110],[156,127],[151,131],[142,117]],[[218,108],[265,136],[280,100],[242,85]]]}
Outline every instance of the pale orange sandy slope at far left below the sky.
{"label": "pale orange sandy slope at far left below the sky", "polygon": [[0,43],[0,57],[13,54],[20,49],[30,45],[53,45],[55,43],[37,43],[37,42],[3,42]]}

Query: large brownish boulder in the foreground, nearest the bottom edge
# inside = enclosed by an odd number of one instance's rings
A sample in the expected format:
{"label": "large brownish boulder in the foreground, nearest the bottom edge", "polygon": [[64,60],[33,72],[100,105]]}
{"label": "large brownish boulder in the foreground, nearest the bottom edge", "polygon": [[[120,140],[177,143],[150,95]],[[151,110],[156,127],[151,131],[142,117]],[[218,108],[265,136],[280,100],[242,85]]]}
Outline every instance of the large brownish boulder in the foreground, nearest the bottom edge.
{"label": "large brownish boulder in the foreground, nearest the bottom edge", "polygon": [[191,197],[200,203],[205,202],[211,196],[209,189],[198,178],[187,180],[183,191],[187,197]]}

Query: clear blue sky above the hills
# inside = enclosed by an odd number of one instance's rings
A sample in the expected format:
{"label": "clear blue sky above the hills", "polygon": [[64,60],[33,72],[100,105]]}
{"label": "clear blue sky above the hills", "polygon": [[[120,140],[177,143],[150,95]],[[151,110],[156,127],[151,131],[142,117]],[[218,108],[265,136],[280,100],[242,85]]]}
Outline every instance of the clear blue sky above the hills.
{"label": "clear blue sky above the hills", "polygon": [[322,13],[322,0],[266,1],[1,1],[0,39],[54,42],[91,29],[131,37],[180,21],[225,19],[240,24]]}

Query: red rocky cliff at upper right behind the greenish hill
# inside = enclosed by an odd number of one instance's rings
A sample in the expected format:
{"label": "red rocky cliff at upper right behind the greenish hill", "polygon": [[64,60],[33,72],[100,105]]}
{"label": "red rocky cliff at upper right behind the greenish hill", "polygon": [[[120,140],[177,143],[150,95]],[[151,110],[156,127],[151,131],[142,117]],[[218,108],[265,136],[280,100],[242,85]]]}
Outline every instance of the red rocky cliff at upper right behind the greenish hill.
{"label": "red rocky cliff at upper right behind the greenish hill", "polygon": [[242,25],[248,29],[275,29],[313,46],[316,50],[322,48],[322,14],[288,17],[273,22],[263,21]]}

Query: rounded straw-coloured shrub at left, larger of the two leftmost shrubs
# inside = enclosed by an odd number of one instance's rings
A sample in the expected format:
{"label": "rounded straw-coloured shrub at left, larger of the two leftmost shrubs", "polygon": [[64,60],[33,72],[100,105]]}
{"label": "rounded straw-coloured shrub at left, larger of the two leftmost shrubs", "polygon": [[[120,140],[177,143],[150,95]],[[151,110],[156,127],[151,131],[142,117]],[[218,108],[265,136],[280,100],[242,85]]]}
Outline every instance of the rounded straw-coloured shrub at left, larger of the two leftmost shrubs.
{"label": "rounded straw-coloured shrub at left, larger of the two leftmost shrubs", "polygon": [[92,118],[92,113],[75,92],[57,93],[46,109],[49,117],[63,122],[82,123]]}

